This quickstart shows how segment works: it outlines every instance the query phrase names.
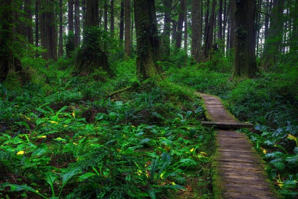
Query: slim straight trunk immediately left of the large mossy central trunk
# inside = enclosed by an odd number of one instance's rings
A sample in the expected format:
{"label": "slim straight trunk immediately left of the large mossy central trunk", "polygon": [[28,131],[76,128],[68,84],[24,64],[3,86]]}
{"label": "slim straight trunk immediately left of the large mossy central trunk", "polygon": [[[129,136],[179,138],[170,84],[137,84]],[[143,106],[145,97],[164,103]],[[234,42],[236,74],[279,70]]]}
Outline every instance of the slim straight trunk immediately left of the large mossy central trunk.
{"label": "slim straight trunk immediately left of the large mossy central trunk", "polygon": [[125,43],[124,51],[125,55],[130,57],[132,51],[131,44],[131,2],[130,0],[124,1],[124,23],[125,23]]}

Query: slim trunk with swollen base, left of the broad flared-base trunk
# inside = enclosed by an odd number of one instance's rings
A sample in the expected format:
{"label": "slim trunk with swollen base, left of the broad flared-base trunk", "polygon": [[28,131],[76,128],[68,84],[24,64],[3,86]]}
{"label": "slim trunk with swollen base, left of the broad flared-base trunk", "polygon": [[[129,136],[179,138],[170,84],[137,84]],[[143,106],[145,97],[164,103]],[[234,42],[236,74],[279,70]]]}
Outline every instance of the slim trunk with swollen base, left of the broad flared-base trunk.
{"label": "slim trunk with swollen base, left of the broad flared-base trunk", "polygon": [[74,37],[74,0],[68,0],[68,41],[66,44],[66,55],[68,57],[73,56],[75,48]]}

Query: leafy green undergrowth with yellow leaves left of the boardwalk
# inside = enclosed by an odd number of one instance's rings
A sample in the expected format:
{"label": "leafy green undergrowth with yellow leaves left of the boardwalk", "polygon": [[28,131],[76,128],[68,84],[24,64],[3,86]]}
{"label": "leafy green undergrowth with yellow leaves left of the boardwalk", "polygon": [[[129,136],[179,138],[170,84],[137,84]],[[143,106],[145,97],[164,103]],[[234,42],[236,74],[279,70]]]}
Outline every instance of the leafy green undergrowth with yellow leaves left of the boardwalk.
{"label": "leafy green undergrowth with yellow leaves left of the boardwalk", "polygon": [[0,198],[213,198],[198,99],[140,84],[134,60],[114,62],[114,78],[67,65],[0,85]]}

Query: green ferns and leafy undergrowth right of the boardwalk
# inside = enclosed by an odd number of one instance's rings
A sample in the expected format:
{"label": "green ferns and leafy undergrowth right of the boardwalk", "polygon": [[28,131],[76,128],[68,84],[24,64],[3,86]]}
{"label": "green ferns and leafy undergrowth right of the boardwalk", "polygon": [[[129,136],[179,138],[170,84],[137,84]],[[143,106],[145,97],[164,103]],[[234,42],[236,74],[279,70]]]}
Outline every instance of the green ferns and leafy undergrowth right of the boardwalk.
{"label": "green ferns and leafy undergrowth right of the boardwalk", "polygon": [[232,80],[226,58],[213,69],[209,62],[167,72],[169,79],[202,93],[225,100],[230,112],[242,121],[255,124],[245,131],[255,148],[268,162],[269,178],[284,198],[298,197],[298,64],[284,58],[275,68],[255,79]]}

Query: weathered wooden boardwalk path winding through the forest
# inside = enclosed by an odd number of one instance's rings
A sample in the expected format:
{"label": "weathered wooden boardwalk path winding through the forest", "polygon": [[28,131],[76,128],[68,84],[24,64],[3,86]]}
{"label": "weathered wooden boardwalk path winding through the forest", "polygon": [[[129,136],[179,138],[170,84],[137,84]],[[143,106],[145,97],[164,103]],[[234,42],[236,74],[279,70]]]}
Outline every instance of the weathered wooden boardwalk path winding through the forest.
{"label": "weathered wooden boardwalk path winding through the forest", "polygon": [[[215,128],[252,128],[240,123],[216,96],[195,93],[204,100],[208,122]],[[265,173],[265,166],[243,133],[216,130],[216,153],[212,160],[212,176],[216,199],[277,199],[278,194]]]}

